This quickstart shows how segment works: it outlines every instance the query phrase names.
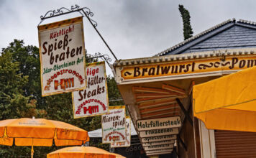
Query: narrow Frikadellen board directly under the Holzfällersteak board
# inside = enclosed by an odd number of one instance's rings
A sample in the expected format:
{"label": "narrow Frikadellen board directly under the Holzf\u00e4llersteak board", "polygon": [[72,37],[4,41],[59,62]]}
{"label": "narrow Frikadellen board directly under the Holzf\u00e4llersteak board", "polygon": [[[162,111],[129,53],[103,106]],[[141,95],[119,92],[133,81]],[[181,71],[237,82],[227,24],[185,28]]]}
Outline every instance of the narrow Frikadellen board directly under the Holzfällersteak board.
{"label": "narrow Frikadellen board directly under the Holzf\u00e4llersteak board", "polygon": [[140,131],[140,137],[150,137],[150,136],[165,136],[170,134],[178,134],[178,128],[169,129],[153,129],[150,131]]}

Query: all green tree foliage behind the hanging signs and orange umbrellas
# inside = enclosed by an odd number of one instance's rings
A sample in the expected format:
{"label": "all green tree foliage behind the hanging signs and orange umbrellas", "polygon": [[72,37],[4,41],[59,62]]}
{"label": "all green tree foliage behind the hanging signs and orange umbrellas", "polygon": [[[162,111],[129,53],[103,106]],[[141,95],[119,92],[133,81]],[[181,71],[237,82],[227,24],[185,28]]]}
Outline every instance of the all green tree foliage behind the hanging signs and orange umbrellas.
{"label": "all green tree foliage behind the hanging signs and orange umbrellas", "polygon": [[[86,57],[86,62],[96,62]],[[107,77],[109,100],[121,98],[113,77]],[[40,56],[35,46],[24,46],[22,40],[14,40],[0,52],[0,120],[22,117],[45,118],[64,121],[81,129],[92,131],[101,128],[101,116],[73,119],[71,93],[42,97],[40,82]],[[110,101],[111,106],[123,105],[122,101]],[[90,142],[93,147],[109,149],[101,139]],[[35,157],[62,147],[35,147]],[[0,157],[30,157],[31,147],[0,146]]]}

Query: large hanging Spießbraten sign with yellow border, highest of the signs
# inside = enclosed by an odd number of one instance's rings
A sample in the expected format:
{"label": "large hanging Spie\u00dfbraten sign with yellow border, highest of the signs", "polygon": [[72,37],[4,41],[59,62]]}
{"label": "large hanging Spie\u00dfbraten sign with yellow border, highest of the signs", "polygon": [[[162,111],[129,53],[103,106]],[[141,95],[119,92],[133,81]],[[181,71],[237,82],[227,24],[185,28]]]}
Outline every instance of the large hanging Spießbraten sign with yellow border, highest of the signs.
{"label": "large hanging Spie\u00dfbraten sign with yellow border, highest of the signs", "polygon": [[86,88],[83,17],[38,26],[42,96]]}

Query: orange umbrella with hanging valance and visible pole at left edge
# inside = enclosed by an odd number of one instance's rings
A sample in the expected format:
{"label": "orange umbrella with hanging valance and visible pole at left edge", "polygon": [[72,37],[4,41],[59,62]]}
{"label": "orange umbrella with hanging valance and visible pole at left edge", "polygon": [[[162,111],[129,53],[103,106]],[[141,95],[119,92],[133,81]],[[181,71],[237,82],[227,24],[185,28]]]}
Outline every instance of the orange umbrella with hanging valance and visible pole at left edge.
{"label": "orange umbrella with hanging valance and visible pole at left edge", "polygon": [[12,146],[72,146],[89,141],[87,131],[61,121],[47,119],[7,119],[0,121],[0,144]]}

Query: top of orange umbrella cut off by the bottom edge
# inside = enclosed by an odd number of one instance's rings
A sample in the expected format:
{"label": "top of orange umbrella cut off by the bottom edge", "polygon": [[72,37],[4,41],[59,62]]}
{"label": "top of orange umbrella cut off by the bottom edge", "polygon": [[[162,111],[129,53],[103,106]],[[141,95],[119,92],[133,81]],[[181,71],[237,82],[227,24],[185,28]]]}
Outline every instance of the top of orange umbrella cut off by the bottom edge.
{"label": "top of orange umbrella cut off by the bottom edge", "polygon": [[116,155],[96,147],[66,147],[47,154],[47,158],[115,158]]}

